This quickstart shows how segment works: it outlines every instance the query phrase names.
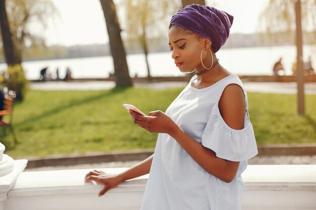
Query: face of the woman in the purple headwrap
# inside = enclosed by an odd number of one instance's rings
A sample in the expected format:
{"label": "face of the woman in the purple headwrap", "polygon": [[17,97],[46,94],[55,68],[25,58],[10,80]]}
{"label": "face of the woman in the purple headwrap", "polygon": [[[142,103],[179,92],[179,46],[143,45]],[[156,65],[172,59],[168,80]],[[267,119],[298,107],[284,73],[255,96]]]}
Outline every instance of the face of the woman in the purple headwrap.
{"label": "face of the woman in the purple headwrap", "polygon": [[201,65],[200,53],[204,48],[202,39],[197,35],[184,33],[176,27],[169,29],[171,57],[181,72],[190,72]]}

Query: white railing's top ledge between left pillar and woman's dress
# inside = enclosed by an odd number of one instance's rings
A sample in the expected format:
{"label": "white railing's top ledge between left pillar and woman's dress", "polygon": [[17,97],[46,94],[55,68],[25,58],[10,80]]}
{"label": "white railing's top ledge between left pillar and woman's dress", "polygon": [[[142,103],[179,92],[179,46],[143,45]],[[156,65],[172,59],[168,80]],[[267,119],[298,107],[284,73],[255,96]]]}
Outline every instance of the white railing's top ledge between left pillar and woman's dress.
{"label": "white railing's top ledge between left pillar and woman's dress", "polygon": [[[99,169],[106,173],[118,173],[127,168]],[[84,182],[84,176],[94,169],[23,172],[17,180],[9,197],[52,195],[52,194],[86,194],[97,195],[102,185],[92,181]],[[142,192],[148,175],[121,183],[109,192]]]}

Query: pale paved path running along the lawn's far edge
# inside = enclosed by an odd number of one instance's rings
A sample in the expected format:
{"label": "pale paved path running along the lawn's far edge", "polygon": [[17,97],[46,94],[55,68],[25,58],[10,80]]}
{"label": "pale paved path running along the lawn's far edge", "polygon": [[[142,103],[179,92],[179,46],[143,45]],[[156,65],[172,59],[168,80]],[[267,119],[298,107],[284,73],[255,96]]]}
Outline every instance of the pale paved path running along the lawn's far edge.
{"label": "pale paved path running along the lawn's far edge", "polygon": [[[145,87],[157,90],[167,88],[185,87],[186,82],[156,82],[156,83],[135,83],[135,87]],[[296,94],[296,83],[276,83],[276,82],[244,82],[244,87],[248,92],[260,93],[284,93]],[[115,87],[113,81],[51,81],[33,82],[31,89],[34,90],[107,90]],[[306,94],[316,94],[316,83],[305,83]]]}

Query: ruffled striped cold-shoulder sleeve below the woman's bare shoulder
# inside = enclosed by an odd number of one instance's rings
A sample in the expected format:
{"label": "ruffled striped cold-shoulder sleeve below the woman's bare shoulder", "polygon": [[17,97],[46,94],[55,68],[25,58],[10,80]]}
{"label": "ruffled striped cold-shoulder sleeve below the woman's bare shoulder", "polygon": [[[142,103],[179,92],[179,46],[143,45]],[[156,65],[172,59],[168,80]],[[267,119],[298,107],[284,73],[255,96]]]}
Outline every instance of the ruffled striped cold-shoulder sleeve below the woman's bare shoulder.
{"label": "ruffled striped cold-shoulder sleeve below the woman's bare shoulder", "polygon": [[225,160],[240,162],[258,154],[253,127],[246,113],[245,127],[235,130],[222,118],[214,107],[202,133],[201,144]]}

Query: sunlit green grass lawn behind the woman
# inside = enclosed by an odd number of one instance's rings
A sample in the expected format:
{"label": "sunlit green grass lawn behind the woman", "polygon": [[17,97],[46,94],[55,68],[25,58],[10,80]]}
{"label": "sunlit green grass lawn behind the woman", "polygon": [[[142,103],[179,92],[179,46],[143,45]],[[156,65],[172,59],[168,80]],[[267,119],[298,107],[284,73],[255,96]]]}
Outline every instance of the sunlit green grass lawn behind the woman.
{"label": "sunlit green grass lawn behind the woman", "polygon": [[[165,111],[181,90],[30,90],[14,110],[20,144],[0,141],[13,158],[154,148],[157,134],[136,126],[122,104]],[[248,100],[257,144],[316,142],[316,95],[306,96],[305,116],[297,115],[296,95],[248,93]]]}

